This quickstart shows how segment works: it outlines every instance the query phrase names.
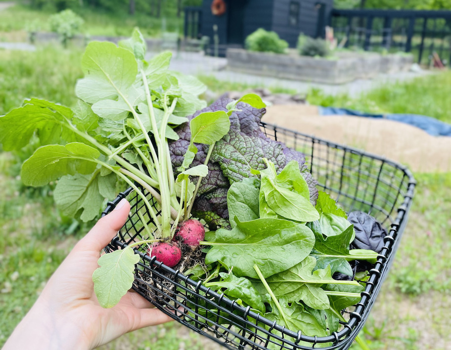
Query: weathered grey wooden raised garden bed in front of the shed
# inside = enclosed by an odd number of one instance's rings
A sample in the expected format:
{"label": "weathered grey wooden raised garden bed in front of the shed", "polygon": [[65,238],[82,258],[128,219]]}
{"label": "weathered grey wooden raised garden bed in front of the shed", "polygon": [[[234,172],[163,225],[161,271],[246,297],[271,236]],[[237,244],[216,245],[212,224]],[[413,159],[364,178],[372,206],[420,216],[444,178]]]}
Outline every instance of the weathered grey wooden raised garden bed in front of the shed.
{"label": "weathered grey wooden raised garden bed in front of the shed", "polygon": [[404,71],[413,63],[411,55],[373,52],[339,52],[333,58],[321,58],[229,48],[226,57],[233,71],[323,84],[344,84]]}

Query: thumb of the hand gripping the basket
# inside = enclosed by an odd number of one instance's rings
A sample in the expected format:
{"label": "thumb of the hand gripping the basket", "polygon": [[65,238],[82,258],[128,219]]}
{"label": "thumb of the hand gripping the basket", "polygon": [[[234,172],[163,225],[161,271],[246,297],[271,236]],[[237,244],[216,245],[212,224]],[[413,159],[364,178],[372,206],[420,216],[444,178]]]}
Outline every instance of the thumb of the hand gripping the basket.
{"label": "thumb of the hand gripping the basket", "polygon": [[130,213],[130,203],[123,198],[108,215],[99,219],[76,248],[100,252],[124,226]]}

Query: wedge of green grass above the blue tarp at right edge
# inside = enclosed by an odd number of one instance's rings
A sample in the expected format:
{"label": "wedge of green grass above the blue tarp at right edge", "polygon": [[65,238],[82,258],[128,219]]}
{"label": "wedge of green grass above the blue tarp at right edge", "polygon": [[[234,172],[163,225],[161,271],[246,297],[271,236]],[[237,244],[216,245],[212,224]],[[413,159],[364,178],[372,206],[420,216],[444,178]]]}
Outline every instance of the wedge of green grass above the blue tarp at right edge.
{"label": "wedge of green grass above the blue tarp at right edge", "polygon": [[380,114],[420,114],[451,123],[451,71],[387,84],[354,98],[348,94],[326,95],[319,89],[312,89],[307,99],[313,105],[324,107]]}

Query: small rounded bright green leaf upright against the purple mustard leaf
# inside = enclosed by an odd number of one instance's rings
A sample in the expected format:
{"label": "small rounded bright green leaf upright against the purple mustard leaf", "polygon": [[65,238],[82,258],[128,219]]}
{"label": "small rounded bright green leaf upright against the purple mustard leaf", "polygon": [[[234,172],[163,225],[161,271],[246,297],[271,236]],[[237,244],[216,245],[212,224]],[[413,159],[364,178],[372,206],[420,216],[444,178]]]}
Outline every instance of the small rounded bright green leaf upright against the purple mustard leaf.
{"label": "small rounded bright green leaf upright against the purple mustard leaf", "polygon": [[191,119],[191,142],[211,145],[226,135],[230,129],[230,119],[226,112],[206,112]]}

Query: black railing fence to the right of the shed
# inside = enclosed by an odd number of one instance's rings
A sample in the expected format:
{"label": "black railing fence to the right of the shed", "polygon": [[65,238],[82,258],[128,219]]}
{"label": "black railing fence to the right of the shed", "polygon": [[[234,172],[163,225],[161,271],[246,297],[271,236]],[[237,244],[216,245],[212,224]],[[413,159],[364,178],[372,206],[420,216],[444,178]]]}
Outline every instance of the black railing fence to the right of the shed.
{"label": "black railing fence to the right of the shed", "polygon": [[333,9],[330,25],[345,47],[411,52],[427,65],[435,53],[451,64],[451,11]]}

